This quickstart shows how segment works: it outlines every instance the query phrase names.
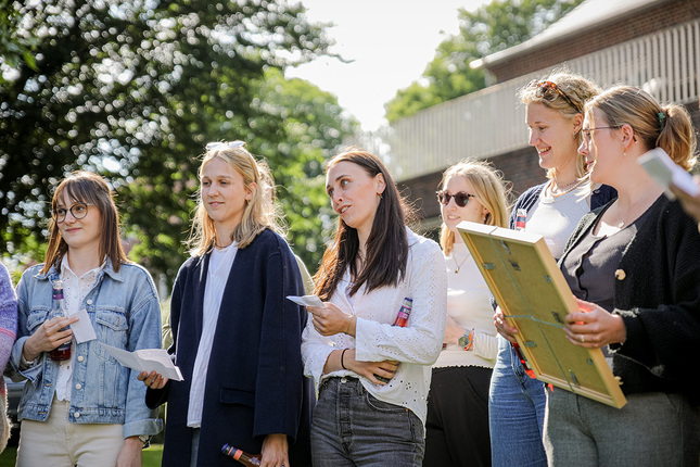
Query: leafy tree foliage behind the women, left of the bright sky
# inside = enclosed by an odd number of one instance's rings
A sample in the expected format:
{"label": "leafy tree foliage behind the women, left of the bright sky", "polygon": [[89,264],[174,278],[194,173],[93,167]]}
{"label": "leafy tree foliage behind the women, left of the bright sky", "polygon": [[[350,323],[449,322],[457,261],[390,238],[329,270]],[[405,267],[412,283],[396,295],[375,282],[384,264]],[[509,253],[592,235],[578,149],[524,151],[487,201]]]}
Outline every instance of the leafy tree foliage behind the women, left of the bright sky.
{"label": "leafy tree foliage behind the women, left of the bright sky", "polygon": [[[8,60],[0,70],[0,251],[40,242],[49,187],[89,168],[117,192],[136,243],[131,257],[171,280],[208,141],[245,140],[284,184],[285,207],[318,205],[302,180],[320,173],[323,151],[352,124],[331,96],[278,72],[329,46],[323,25],[308,23],[301,5],[46,0],[12,8],[8,21],[18,23],[10,28],[34,40],[36,70]],[[322,241],[318,211],[301,212],[309,219],[294,222],[301,234],[296,240],[293,225],[292,241]]]}

